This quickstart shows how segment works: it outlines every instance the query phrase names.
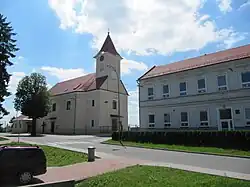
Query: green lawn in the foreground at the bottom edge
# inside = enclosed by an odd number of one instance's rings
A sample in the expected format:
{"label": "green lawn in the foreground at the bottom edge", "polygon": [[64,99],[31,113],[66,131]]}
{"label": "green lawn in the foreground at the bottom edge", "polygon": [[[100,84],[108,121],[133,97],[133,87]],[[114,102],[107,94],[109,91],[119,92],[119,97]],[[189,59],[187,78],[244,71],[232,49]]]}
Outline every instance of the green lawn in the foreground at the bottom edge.
{"label": "green lawn in the foreground at the bottom edge", "polygon": [[250,181],[156,166],[133,166],[90,178],[77,187],[249,187]]}

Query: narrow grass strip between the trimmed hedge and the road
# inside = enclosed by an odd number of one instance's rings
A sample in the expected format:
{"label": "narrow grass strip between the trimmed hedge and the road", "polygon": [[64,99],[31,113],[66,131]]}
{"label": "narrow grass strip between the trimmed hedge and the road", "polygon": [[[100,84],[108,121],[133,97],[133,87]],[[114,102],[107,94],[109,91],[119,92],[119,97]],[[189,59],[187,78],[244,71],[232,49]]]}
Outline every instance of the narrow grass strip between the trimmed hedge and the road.
{"label": "narrow grass strip between the trimmed hedge and the road", "polygon": [[[119,141],[107,140],[103,143],[121,145]],[[241,151],[233,149],[222,149],[216,147],[190,147],[183,145],[167,145],[167,144],[152,144],[152,143],[136,143],[136,142],[122,142],[125,146],[139,146],[143,148],[164,148],[173,151],[187,151],[187,152],[197,152],[197,153],[213,153],[218,155],[233,155],[233,156],[249,156],[250,151]]]}

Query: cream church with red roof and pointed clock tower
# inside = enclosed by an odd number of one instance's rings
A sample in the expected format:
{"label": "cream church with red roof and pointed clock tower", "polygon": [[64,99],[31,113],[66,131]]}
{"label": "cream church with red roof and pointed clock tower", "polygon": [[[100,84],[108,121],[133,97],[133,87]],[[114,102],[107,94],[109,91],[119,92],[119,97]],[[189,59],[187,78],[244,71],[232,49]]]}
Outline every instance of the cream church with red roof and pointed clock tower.
{"label": "cream church with red roof and pointed clock tower", "polygon": [[[96,72],[57,83],[52,108],[37,131],[51,134],[100,134],[128,129],[128,92],[121,81],[121,60],[108,33],[94,56]],[[119,123],[120,122],[120,123]]]}

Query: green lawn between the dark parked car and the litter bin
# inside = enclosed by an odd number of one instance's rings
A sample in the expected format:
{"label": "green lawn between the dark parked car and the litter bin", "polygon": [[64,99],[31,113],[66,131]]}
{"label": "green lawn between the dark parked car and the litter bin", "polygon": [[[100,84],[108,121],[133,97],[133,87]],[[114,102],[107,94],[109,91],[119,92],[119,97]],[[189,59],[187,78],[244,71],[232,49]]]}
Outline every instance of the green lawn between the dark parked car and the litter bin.
{"label": "green lawn between the dark parked car and the litter bin", "polygon": [[[17,146],[17,145],[31,145],[26,143],[17,143],[12,142],[9,144],[5,144],[9,146]],[[84,153],[69,151],[65,149],[45,146],[45,145],[38,145],[44,150],[44,153],[47,158],[47,165],[49,167],[52,166],[65,166],[65,165],[71,165],[76,164],[80,162],[85,162],[88,160],[88,157]]]}

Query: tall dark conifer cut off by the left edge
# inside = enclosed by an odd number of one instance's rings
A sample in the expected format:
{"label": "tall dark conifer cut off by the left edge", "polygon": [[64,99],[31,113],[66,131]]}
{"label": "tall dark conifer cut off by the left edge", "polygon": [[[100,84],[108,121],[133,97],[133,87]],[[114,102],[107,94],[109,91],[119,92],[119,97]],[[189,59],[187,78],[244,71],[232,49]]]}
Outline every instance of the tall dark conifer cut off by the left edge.
{"label": "tall dark conifer cut off by the left edge", "polygon": [[15,35],[10,22],[7,22],[6,17],[0,14],[0,119],[9,114],[2,103],[5,97],[10,96],[7,87],[11,75],[7,72],[7,66],[13,65],[10,58],[14,58],[14,52],[19,50],[16,48],[16,40],[13,39]]}

